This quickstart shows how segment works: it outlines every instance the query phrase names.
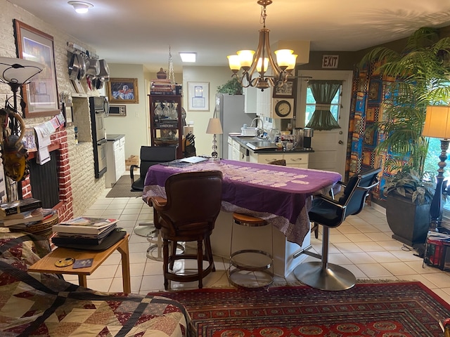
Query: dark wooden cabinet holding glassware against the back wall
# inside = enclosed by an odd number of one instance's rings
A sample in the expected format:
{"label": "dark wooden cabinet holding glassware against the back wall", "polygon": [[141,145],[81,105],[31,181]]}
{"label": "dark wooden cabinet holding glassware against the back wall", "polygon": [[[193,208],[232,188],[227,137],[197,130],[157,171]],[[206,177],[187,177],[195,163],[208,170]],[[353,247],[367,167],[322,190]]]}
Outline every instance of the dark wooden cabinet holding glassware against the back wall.
{"label": "dark wooden cabinet holding glassware against the back wall", "polygon": [[152,146],[177,146],[176,158],[183,157],[181,95],[148,95]]}

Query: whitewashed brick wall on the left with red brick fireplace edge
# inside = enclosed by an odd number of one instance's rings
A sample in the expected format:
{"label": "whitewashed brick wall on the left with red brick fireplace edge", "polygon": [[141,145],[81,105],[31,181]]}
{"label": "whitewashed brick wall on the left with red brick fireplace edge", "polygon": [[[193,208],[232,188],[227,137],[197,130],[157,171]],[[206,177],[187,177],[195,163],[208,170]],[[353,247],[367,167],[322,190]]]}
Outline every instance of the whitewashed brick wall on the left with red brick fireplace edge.
{"label": "whitewashed brick wall on the left with red brick fireplace edge", "polygon": [[[28,13],[18,6],[11,4],[6,0],[0,0],[1,20],[0,20],[0,56],[17,57],[15,52],[15,39],[13,30],[13,19],[20,20],[27,25],[45,32],[53,37],[55,51],[56,81],[58,92],[70,91],[75,93],[70,84],[68,74],[68,42],[73,42],[89,51],[95,49],[84,44],[70,34],[55,29],[43,20]],[[86,89],[86,80],[82,85]],[[91,206],[98,196],[105,189],[104,178],[96,179],[94,176],[94,154],[92,143],[89,139],[75,144],[74,126],[78,129],[83,128],[90,132],[89,119],[89,95],[98,95],[97,91],[87,91],[86,96],[77,98],[79,108],[74,111],[74,124],[68,128],[60,130],[52,135],[52,142],[60,145],[60,201],[63,206],[60,208],[60,217],[70,218],[71,216],[80,216]],[[4,106],[7,98],[11,97],[11,88],[7,84],[0,84],[0,106]],[[51,117],[37,117],[25,119],[27,128],[44,121]],[[30,180],[27,178],[23,182],[24,197],[32,194]]]}

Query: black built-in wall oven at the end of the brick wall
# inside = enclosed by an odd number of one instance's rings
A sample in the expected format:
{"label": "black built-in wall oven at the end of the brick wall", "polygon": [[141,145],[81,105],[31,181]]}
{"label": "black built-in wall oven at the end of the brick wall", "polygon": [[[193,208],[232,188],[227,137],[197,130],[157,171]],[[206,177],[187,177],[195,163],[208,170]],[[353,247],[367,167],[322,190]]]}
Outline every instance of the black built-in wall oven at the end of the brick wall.
{"label": "black built-in wall oven at the end of the brick wall", "polygon": [[91,114],[92,145],[94,147],[94,173],[101,178],[106,172],[105,117],[109,114],[108,98],[105,96],[89,97]]}

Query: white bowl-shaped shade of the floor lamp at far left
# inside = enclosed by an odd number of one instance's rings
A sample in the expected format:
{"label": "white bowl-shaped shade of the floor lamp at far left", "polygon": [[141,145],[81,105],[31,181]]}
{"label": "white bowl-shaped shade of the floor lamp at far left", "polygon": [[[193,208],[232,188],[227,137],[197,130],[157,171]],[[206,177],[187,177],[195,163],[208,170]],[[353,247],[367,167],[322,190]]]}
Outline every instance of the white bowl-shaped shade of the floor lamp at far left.
{"label": "white bowl-shaped shade of the floor lamp at far left", "polygon": [[0,81],[7,84],[26,84],[44,69],[41,63],[23,58],[0,58]]}

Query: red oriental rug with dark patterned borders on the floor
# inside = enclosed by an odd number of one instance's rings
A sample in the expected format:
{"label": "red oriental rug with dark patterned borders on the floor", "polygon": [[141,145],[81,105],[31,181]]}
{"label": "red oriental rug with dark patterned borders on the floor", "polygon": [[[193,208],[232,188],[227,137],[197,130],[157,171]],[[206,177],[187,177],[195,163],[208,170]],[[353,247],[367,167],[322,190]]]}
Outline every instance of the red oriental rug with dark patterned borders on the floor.
{"label": "red oriental rug with dark patterned borders on the floor", "polygon": [[158,295],[186,306],[198,336],[444,336],[439,319],[450,317],[450,305],[420,282],[356,284],[346,291],[284,286]]}

